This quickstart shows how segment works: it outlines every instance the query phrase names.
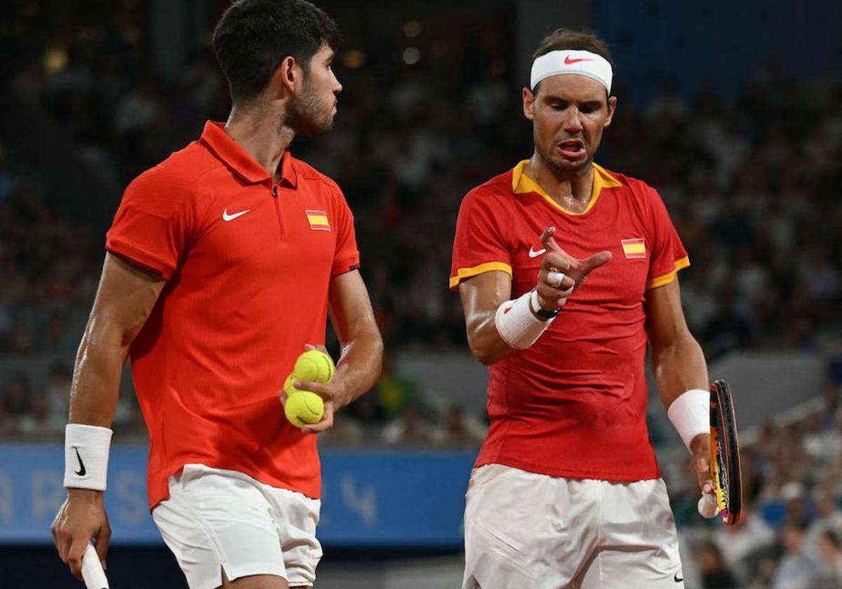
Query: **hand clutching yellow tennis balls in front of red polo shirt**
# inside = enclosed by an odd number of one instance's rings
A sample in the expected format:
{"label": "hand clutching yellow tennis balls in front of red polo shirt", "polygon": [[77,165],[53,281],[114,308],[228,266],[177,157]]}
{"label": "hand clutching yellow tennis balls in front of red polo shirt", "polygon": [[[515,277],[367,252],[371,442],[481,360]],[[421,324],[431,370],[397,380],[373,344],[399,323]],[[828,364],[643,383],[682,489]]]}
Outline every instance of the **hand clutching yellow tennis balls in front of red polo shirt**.
{"label": "hand clutching yellow tennis balls in front of red polo shirt", "polygon": [[336,368],[323,346],[306,345],[295,368],[280,392],[290,423],[305,433],[318,433],[333,427],[333,411],[345,404],[347,396],[340,381],[333,380]]}

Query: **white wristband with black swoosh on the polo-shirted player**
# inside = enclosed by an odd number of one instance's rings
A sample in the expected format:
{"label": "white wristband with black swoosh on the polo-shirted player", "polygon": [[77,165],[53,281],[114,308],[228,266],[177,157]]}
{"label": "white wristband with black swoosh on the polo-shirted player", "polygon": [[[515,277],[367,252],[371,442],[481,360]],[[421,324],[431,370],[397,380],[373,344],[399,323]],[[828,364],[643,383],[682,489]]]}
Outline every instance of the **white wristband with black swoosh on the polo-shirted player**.
{"label": "white wristband with black swoosh on the polo-shirted player", "polygon": [[105,491],[112,433],[108,427],[67,424],[64,428],[64,486]]}

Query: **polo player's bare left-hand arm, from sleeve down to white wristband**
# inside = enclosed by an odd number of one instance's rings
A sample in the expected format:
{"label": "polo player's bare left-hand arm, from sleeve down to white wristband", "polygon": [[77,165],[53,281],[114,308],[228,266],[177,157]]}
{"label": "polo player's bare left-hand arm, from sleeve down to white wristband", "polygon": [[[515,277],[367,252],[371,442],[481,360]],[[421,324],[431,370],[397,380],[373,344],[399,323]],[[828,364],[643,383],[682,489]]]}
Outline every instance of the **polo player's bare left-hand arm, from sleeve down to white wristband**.
{"label": "polo player's bare left-hand arm, from sleeve down to white wristband", "polygon": [[76,355],[69,422],[111,426],[129,346],[164,284],[163,279],[105,254],[93,310]]}

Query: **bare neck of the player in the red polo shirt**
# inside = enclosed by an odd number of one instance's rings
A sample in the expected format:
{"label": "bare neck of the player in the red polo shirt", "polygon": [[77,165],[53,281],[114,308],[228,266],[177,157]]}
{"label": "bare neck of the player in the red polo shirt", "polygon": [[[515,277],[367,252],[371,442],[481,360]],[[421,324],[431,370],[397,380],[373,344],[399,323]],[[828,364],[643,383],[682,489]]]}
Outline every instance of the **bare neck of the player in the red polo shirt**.
{"label": "bare neck of the player in the red polo shirt", "polygon": [[225,124],[226,133],[274,179],[280,158],[296,136],[280,119],[282,115],[275,109],[238,109],[235,105]]}

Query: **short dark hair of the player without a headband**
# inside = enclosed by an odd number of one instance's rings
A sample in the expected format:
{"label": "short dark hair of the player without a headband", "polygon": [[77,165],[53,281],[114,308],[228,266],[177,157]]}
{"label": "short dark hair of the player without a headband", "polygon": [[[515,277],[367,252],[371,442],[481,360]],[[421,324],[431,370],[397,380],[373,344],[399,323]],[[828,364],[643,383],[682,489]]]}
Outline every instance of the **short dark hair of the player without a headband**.
{"label": "short dark hair of the player without a headband", "polygon": [[306,0],[236,0],[213,33],[216,60],[235,103],[257,98],[286,57],[307,72],[323,44],[336,50],[338,42],[337,24]]}

